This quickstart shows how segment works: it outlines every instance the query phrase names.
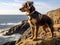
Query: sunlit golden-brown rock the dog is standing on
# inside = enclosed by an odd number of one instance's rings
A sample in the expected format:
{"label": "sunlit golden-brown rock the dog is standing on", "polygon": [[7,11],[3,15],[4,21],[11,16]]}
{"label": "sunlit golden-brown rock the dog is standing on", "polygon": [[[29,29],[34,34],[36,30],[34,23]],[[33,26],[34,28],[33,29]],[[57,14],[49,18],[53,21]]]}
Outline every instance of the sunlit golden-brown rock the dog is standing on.
{"label": "sunlit golden-brown rock the dog is standing on", "polygon": [[29,28],[24,32],[22,37],[16,42],[15,45],[60,45],[60,37],[51,38],[50,31],[47,32],[47,35],[44,34],[45,32],[43,31],[43,28],[40,27],[38,39],[36,41],[33,41],[32,39],[29,39],[29,37],[31,36],[31,29]]}

